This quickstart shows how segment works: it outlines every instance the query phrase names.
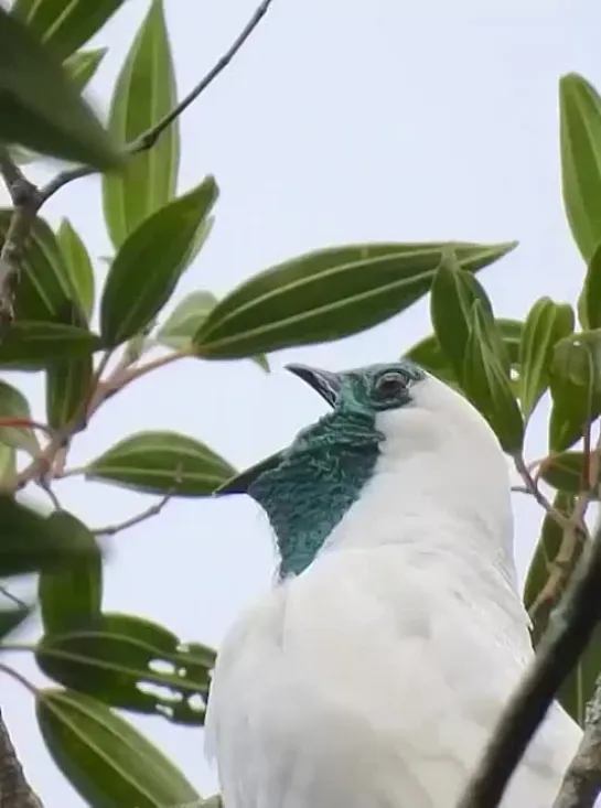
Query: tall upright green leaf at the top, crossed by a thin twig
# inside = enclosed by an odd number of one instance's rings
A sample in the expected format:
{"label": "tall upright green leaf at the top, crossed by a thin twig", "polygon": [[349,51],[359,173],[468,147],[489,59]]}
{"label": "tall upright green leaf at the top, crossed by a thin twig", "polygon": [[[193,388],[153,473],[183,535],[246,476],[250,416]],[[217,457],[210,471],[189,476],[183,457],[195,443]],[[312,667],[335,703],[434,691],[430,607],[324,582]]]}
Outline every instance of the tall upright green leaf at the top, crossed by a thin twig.
{"label": "tall upright green leaf at the top, crossed by a thin twig", "polygon": [[[163,3],[153,0],[117,79],[109,131],[118,143],[131,143],[176,103]],[[179,166],[180,130],[174,120],[158,142],[132,157],[119,175],[103,177],[105,219],[116,247],[174,196]]]}

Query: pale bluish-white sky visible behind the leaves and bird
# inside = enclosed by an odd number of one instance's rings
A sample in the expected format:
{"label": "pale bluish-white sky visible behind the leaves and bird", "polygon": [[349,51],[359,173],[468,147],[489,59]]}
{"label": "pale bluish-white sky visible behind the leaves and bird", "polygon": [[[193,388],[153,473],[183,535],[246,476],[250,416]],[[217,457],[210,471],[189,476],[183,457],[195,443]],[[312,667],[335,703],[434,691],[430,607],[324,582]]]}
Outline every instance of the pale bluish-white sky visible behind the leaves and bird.
{"label": "pale bluish-white sky visible behind the leaves and bird", "polygon": [[[255,3],[165,0],[180,94],[228,47]],[[130,0],[93,42],[110,49],[90,85],[100,110],[147,7]],[[198,289],[223,295],[266,267],[321,247],[447,239],[519,240],[480,274],[497,316],[522,319],[543,294],[575,302],[583,266],[561,203],[558,79],[578,72],[601,87],[600,24],[594,3],[567,0],[273,0],[235,62],[181,121],[179,190],[214,174],[221,197],[214,231],[173,302]],[[30,175],[50,172],[35,168]],[[95,259],[109,254],[97,179],[66,187],[43,213],[52,224],[68,216]],[[106,267],[99,260],[96,267],[101,279]],[[71,464],[132,432],[173,429],[243,468],[323,412],[319,397],[282,369],[287,362],[341,369],[394,359],[430,331],[421,301],[364,334],[277,353],[270,375],[250,362],[186,359],[103,408],[77,438]],[[17,380],[43,418],[42,380]],[[543,407],[529,430],[530,459],[545,451],[545,419]],[[56,492],[93,527],[152,502],[77,478]],[[535,504],[515,495],[522,580],[540,518]],[[173,500],[112,541],[104,607],[157,621],[182,642],[218,646],[240,611],[271,585],[273,567],[273,540],[251,500]],[[37,636],[32,625],[18,638]],[[28,655],[2,661],[44,682]],[[7,678],[1,687],[2,713],[30,782],[49,806],[81,808],[45,751],[30,694]],[[128,719],[204,796],[216,789],[202,730]]]}

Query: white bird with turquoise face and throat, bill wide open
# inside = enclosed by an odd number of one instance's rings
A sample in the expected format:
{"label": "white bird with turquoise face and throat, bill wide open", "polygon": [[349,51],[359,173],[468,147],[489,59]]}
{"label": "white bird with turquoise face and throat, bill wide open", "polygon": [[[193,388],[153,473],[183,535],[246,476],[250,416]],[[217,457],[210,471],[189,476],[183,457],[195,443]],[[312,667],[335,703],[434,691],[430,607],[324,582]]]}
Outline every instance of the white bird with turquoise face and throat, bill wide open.
{"label": "white bird with turquoise face and throat, bill wide open", "polygon": [[[288,369],[329,411],[229,492],[267,514],[272,588],[218,649],[225,808],[450,808],[534,657],[508,463],[409,359]],[[555,702],[503,808],[548,808],[582,733]]]}

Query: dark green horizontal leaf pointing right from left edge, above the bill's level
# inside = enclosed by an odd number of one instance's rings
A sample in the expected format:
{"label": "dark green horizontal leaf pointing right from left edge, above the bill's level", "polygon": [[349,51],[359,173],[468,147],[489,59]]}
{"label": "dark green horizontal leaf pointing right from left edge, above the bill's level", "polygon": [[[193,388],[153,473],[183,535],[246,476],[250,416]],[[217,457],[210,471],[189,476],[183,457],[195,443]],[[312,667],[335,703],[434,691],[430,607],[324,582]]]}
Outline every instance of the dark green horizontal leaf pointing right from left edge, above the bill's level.
{"label": "dark green horizontal leaf pointing right from left edge, above the bill's level", "polygon": [[23,320],[12,323],[0,342],[0,367],[41,370],[100,347],[100,338],[86,328]]}

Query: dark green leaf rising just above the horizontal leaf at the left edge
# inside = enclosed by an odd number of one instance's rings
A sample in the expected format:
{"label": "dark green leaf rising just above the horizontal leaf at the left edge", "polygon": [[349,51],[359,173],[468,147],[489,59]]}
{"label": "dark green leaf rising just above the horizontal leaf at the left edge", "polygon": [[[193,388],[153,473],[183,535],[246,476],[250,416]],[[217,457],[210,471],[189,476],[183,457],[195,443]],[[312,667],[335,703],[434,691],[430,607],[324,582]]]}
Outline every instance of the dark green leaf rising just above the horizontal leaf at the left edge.
{"label": "dark green leaf rising just above the horizontal leaf at the left edge", "polygon": [[[0,208],[0,238],[3,240],[12,217],[12,208]],[[23,256],[23,273],[19,282],[15,316],[71,323],[76,291],[67,262],[47,222],[33,220]]]}

